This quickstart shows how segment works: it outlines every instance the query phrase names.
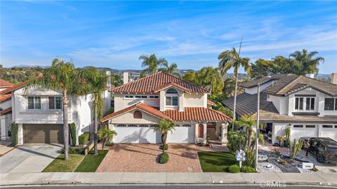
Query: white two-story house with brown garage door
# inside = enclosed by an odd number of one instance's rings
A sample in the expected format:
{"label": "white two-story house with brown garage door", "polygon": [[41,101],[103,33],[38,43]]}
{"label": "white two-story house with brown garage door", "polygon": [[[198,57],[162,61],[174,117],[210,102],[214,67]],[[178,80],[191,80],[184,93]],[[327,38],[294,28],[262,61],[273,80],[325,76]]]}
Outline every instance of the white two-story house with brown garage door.
{"label": "white two-story house with brown garage door", "polygon": [[[18,144],[63,143],[62,92],[25,88],[26,83],[0,91],[1,95],[11,94],[12,120],[19,128]],[[105,100],[107,110],[110,108],[110,94],[104,92],[104,97],[108,99]],[[93,131],[92,104],[91,94],[68,98],[68,122],[76,124],[77,137],[83,132]]]}

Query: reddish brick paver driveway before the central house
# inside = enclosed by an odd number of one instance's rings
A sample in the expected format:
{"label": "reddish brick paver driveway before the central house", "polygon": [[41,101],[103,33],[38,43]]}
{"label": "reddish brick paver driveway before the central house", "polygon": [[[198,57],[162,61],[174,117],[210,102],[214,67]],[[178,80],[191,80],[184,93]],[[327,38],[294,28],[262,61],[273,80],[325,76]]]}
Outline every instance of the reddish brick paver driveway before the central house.
{"label": "reddish brick paver driveway before the central house", "polygon": [[159,144],[115,144],[97,172],[201,172],[194,144],[170,144],[169,162],[157,162]]}

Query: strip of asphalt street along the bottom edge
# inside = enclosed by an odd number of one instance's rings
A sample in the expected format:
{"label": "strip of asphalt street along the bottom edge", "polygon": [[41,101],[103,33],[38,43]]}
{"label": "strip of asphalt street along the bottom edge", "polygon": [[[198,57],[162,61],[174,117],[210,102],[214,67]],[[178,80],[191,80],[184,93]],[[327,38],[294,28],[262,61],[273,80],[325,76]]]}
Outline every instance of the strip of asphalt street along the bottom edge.
{"label": "strip of asphalt street along the bottom edge", "polygon": [[[318,188],[333,188],[331,186],[266,186],[266,185],[255,185],[255,186],[249,186],[249,185],[179,185],[179,186],[160,186],[160,185],[152,185],[152,186],[33,186],[33,187],[16,187],[11,189],[65,189],[65,188],[71,188],[71,189],[155,189],[155,188],[163,188],[163,189],[258,189],[258,188],[289,188],[289,189],[318,189]],[[336,188],[336,187],[335,187]]]}

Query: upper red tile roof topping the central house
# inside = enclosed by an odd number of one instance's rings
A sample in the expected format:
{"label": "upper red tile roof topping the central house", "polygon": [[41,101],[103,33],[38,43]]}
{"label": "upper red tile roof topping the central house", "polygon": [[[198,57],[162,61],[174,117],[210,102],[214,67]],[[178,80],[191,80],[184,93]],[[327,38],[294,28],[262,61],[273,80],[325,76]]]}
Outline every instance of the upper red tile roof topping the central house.
{"label": "upper red tile roof topping the central house", "polygon": [[166,87],[174,86],[188,92],[206,92],[209,90],[198,87],[190,82],[177,78],[169,73],[159,71],[150,76],[131,81],[119,87],[114,87],[110,92],[120,93],[154,93]]}

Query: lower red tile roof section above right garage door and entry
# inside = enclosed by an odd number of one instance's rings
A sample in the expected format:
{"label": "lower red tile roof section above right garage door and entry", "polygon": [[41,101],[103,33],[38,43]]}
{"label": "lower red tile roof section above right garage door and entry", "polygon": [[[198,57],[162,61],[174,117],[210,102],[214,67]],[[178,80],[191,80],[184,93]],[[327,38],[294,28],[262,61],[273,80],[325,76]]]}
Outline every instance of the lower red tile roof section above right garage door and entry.
{"label": "lower red tile roof section above right garage door and entry", "polygon": [[184,111],[166,110],[163,113],[175,121],[232,121],[220,111],[202,107],[186,107]]}

